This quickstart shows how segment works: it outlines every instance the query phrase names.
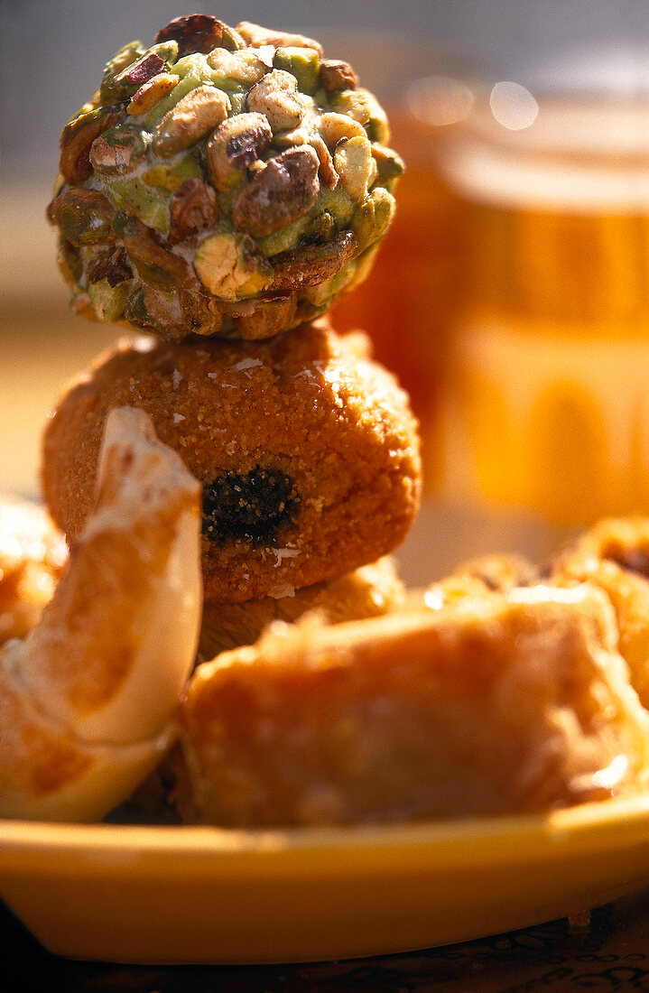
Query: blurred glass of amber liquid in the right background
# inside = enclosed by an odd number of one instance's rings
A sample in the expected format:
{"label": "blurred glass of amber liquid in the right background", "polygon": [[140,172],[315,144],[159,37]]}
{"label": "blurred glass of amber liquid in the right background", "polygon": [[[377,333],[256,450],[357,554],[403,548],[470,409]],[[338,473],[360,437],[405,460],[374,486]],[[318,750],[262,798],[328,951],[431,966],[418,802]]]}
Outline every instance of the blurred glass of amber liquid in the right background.
{"label": "blurred glass of amber liquid in the right background", "polygon": [[649,512],[648,124],[639,101],[549,98],[525,133],[468,122],[441,167],[463,485],[557,525]]}

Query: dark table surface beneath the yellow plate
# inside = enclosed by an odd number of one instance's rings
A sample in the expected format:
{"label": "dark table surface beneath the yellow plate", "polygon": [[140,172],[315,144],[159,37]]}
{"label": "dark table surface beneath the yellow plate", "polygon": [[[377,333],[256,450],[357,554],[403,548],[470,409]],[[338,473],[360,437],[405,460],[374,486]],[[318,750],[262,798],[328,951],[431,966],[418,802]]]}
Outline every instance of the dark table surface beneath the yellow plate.
{"label": "dark table surface beneath the yellow plate", "polygon": [[[3,985],[5,984],[6,985]],[[410,954],[268,966],[125,966],[45,951],[0,903],[0,989],[7,993],[563,993],[649,990],[649,891],[589,920]]]}

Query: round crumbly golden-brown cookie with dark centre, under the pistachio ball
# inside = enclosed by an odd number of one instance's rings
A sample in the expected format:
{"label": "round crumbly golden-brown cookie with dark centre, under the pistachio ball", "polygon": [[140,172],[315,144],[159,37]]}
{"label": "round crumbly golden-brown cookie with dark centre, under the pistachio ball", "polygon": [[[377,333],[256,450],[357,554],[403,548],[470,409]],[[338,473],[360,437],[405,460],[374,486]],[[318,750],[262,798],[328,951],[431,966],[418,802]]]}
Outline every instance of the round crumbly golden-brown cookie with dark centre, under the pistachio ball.
{"label": "round crumbly golden-brown cookie with dark centre, under the pistachio ball", "polygon": [[208,601],[351,572],[395,548],[417,510],[417,424],[364,335],[319,322],[266,342],[121,341],[46,431],[44,493],[69,538],[90,509],[106,413],[124,403],[203,484]]}

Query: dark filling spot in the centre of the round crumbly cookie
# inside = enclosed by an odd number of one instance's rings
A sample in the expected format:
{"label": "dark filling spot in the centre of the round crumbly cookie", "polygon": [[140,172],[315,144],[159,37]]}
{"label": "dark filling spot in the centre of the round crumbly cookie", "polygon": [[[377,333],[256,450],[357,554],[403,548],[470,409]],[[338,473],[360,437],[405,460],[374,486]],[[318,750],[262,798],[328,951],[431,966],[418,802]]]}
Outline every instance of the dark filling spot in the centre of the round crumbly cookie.
{"label": "dark filling spot in the centre of the round crumbly cookie", "polygon": [[202,533],[216,545],[233,538],[274,544],[300,503],[284,473],[223,473],[202,488]]}

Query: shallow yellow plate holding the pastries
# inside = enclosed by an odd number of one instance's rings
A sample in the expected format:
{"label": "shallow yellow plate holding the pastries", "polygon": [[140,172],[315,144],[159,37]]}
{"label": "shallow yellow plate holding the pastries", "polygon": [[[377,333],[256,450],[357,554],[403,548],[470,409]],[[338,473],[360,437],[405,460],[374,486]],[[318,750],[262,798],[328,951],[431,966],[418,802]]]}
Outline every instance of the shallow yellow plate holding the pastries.
{"label": "shallow yellow plate holding the pastries", "polygon": [[649,886],[649,796],[340,829],[0,821],[0,894],[52,951],[270,962],[430,947]]}

